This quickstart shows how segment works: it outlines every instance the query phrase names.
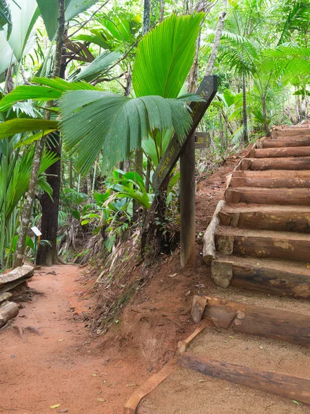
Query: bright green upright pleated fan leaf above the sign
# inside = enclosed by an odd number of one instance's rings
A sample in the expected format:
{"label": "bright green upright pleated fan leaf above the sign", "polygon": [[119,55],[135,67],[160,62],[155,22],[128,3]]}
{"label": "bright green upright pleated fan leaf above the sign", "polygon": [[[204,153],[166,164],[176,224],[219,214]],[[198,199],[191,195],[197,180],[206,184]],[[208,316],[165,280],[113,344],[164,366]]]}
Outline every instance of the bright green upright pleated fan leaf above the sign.
{"label": "bright green upright pleated fan leaf above the sign", "polygon": [[196,39],[204,13],[172,14],[145,34],[138,44],[132,73],[137,97],[176,98],[187,78],[196,52]]}

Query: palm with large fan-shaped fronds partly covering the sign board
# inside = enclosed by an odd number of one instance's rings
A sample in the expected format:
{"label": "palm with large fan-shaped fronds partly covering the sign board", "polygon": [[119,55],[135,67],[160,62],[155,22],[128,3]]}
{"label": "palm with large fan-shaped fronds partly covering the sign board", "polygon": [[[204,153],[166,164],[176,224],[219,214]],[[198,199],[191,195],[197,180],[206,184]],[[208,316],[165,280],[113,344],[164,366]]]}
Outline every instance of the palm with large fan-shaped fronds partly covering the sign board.
{"label": "palm with large fan-shaped fronds partly covering the sign board", "polygon": [[[34,78],[43,86],[19,86],[0,101],[0,110],[20,100],[59,99],[61,122],[43,119],[0,124],[0,139],[12,132],[58,127],[66,147],[77,155],[76,168],[86,174],[103,151],[103,172],[130,157],[143,139],[153,139],[159,157],[165,131],[174,130],[183,139],[191,117],[185,101],[196,95],[181,95],[195,55],[203,13],[165,19],[143,37],[138,45],[132,83],[135,97],[125,97],[96,88],[83,81]],[[90,67],[85,69],[90,74]],[[83,79],[81,75],[79,79]],[[38,139],[35,134],[32,139]],[[30,139],[31,141],[31,139]],[[29,142],[29,141],[28,141]]]}

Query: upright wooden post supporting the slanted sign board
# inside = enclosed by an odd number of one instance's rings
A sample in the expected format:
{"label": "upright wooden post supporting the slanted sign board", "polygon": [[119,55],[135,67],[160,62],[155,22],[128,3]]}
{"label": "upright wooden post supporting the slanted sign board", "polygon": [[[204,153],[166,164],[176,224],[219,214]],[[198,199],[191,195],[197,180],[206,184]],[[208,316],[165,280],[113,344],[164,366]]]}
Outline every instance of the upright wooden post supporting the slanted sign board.
{"label": "upright wooden post supporting the slanted sign board", "polygon": [[189,138],[180,156],[180,266],[195,267],[195,135]]}

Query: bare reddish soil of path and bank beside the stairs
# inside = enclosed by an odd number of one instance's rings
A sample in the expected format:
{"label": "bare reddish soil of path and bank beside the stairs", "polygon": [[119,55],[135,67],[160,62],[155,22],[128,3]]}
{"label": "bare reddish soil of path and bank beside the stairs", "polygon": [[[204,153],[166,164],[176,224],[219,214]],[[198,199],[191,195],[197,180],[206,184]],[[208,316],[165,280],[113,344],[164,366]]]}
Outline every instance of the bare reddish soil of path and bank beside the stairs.
{"label": "bare reddish soil of path and bank beside the stairs", "polygon": [[[0,413],[118,414],[134,391],[176,352],[178,341],[194,331],[192,296],[205,290],[208,268],[200,256],[199,233],[207,227],[225,190],[225,177],[238,164],[225,166],[200,181],[196,190],[197,268],[184,275],[178,251],[151,268],[132,266],[134,277],[150,277],[134,293],[118,324],[105,336],[85,328],[83,312],[92,313],[100,269],[92,277],[78,266],[41,268],[29,286],[44,293],[25,304],[14,324],[33,326],[43,335],[13,327],[0,332]],[[56,275],[48,274],[56,272]],[[98,292],[99,293],[99,292]],[[105,401],[101,402],[100,399]],[[57,408],[50,408],[61,404]]]}

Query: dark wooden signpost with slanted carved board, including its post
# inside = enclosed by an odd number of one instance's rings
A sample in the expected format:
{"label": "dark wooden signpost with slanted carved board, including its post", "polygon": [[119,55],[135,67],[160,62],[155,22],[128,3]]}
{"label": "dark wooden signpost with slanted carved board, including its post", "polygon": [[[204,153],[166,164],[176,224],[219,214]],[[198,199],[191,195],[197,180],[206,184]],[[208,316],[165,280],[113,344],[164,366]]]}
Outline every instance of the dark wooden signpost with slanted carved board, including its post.
{"label": "dark wooden signpost with slanted carved board, including its post", "polygon": [[[161,190],[165,179],[180,158],[180,266],[183,270],[191,270],[195,266],[195,147],[205,148],[206,145],[206,137],[201,132],[196,133],[199,141],[195,144],[195,130],[217,90],[216,76],[203,78],[196,93],[204,100],[189,105],[193,124],[187,138],[180,142],[176,135],[172,137],[153,175],[154,190]],[[200,142],[200,139],[203,141]]]}

